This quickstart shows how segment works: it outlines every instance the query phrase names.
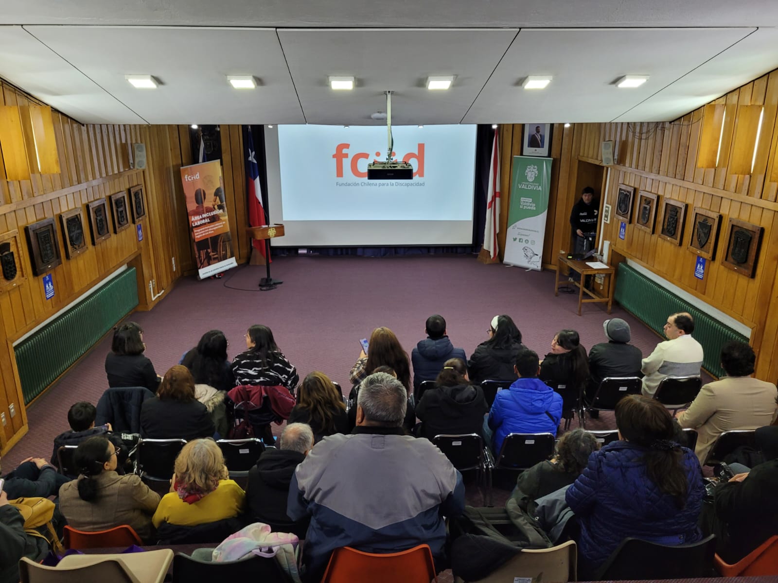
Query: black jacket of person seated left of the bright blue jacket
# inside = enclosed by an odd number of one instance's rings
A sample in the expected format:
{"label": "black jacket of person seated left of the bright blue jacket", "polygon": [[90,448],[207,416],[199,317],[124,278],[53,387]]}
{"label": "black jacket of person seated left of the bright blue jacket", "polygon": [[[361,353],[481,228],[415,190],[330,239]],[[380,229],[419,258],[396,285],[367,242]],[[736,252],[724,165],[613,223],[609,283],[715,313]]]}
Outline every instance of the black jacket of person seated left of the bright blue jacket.
{"label": "black jacket of person seated left of the bright blue jacket", "polygon": [[416,405],[416,417],[422,420],[419,437],[432,441],[436,435],[481,435],[488,411],[480,386],[439,386],[427,390]]}

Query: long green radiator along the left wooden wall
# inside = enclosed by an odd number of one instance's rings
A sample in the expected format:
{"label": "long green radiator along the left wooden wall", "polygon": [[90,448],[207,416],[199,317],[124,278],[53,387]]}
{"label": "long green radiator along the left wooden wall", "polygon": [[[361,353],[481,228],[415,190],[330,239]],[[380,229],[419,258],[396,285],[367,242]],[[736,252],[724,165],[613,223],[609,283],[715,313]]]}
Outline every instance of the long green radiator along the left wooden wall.
{"label": "long green radiator along the left wooden wall", "polygon": [[43,393],[136,305],[138,287],[131,267],[16,344],[24,403]]}

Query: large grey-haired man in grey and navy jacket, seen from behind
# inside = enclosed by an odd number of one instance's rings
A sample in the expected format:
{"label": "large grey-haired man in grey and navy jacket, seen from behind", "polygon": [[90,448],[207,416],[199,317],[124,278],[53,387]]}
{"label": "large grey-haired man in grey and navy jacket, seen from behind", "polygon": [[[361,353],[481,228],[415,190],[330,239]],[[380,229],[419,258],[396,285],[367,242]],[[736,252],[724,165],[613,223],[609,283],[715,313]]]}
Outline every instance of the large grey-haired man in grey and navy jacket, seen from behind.
{"label": "large grey-haired man in grey and navy jacket, seen from behind", "polygon": [[304,581],[320,581],[341,546],[394,553],[426,543],[437,570],[446,568],[443,516],[464,510],[462,477],[428,440],[403,435],[407,400],[392,375],[368,376],[351,435],[324,438],[295,470],[286,511],[310,516]]}

